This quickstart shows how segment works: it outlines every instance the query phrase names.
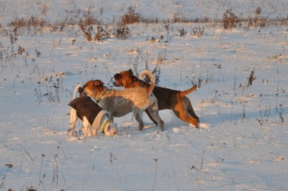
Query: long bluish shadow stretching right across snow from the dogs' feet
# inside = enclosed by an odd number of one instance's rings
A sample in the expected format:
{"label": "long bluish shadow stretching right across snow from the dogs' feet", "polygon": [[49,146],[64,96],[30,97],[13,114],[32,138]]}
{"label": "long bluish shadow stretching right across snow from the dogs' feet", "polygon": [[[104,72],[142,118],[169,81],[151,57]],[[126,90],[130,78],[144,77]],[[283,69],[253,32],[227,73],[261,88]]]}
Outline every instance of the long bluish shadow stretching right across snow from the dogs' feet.
{"label": "long bluish shadow stretching right across snow from the dogs' feet", "polygon": [[[201,128],[210,128],[219,125],[223,122],[238,122],[242,120],[255,120],[255,123],[263,122],[268,123],[275,122],[281,124],[281,115],[284,119],[284,116],[287,115],[288,107],[278,107],[271,108],[269,112],[261,111],[260,109],[257,111],[245,111],[245,112],[221,112],[221,113],[212,113],[209,115],[203,115],[200,117],[199,127]],[[200,114],[200,113],[199,113]],[[244,116],[245,115],[245,116]],[[261,116],[262,115],[262,116]],[[160,116],[164,120],[164,133],[165,131],[173,131],[173,128],[184,128],[185,126],[191,129],[196,129],[189,125],[187,122],[183,122],[179,118],[177,118],[172,111],[160,111]],[[133,115],[131,114],[131,118],[114,118],[115,122],[118,124],[119,134],[118,136],[125,136],[127,134],[151,134],[155,131],[161,133],[160,127],[156,126],[146,115],[143,113],[143,121],[144,121],[144,129],[143,131],[139,131],[138,122],[135,120]]]}

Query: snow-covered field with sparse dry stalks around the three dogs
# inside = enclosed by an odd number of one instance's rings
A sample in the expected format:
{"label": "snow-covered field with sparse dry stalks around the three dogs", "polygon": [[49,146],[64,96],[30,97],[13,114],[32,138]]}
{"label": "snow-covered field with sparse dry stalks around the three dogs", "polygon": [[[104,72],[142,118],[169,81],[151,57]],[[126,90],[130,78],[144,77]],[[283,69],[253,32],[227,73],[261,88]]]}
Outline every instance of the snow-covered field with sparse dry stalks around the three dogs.
{"label": "snow-covered field with sparse dry stalks around the three dogs", "polygon": [[[288,17],[284,0],[0,1],[0,190],[288,190],[288,26],[160,21],[99,42],[77,25],[8,26],[89,10],[113,29],[130,6],[170,21],[176,13],[222,19],[229,9],[255,17],[258,7],[260,17]],[[198,84],[188,95],[198,129],[163,110],[164,131],[146,113],[138,131],[129,113],[115,118],[116,137],[85,138],[78,122],[78,137],[69,138],[76,84],[99,79],[112,87],[115,73],[146,67],[162,87]]]}

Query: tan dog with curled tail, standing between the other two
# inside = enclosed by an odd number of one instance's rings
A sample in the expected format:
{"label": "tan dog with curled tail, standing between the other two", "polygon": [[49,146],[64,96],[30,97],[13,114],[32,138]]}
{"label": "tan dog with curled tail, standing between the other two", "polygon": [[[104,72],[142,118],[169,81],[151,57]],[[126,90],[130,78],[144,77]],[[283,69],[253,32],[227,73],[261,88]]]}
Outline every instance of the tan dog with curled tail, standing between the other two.
{"label": "tan dog with curled tail, standing between the other two", "polygon": [[139,123],[139,131],[144,128],[142,113],[145,109],[151,113],[151,118],[157,122],[161,130],[164,131],[164,122],[158,113],[157,98],[153,96],[155,78],[150,71],[143,71],[140,75],[149,75],[151,85],[149,87],[135,87],[133,89],[108,89],[101,80],[90,80],[79,88],[79,93],[94,98],[99,105],[109,111],[112,117],[121,117],[133,111],[134,117]]}

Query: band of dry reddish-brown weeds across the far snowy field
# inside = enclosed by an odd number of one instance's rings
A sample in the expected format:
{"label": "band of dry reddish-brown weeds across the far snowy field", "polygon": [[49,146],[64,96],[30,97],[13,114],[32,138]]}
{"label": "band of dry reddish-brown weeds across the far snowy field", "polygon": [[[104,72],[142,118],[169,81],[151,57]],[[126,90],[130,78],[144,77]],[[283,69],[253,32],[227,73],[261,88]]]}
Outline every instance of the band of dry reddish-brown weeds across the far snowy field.
{"label": "band of dry reddish-brown weeds across the far snowy field", "polygon": [[[103,9],[100,9],[101,14],[103,14]],[[31,33],[42,33],[44,28],[49,28],[51,32],[63,31],[69,26],[80,26],[81,30],[84,33],[85,38],[88,41],[99,41],[101,39],[108,38],[112,29],[108,29],[108,24],[103,24],[101,21],[96,19],[90,8],[88,10],[73,10],[66,11],[67,17],[63,21],[56,21],[51,23],[46,19],[37,18],[34,16],[28,18],[16,18],[10,21],[8,27],[19,28],[19,29],[28,29]],[[257,7],[255,10],[255,16],[244,17],[244,15],[236,15],[232,12],[232,9],[226,10],[223,12],[222,19],[214,18],[185,18],[181,16],[180,12],[176,12],[173,15],[173,19],[158,19],[158,18],[144,18],[140,13],[135,11],[135,8],[129,7],[128,10],[120,17],[119,21],[116,21],[117,24],[114,29],[114,35],[119,39],[127,39],[130,34],[128,26],[130,24],[139,24],[144,23],[148,24],[166,24],[168,23],[212,23],[212,24],[221,24],[224,29],[230,30],[232,28],[264,28],[270,26],[288,26],[288,17],[274,18],[270,19],[269,17],[261,16],[262,10],[260,7]],[[44,14],[44,13],[43,13]],[[44,16],[44,15],[43,15]],[[45,18],[45,17],[44,17]],[[111,25],[111,24],[110,24]],[[105,27],[104,27],[105,26]],[[95,31],[93,29],[96,29]],[[194,35],[201,36],[203,35],[203,28],[194,28]],[[183,32],[183,31],[182,31]],[[183,35],[183,33],[180,33]]]}

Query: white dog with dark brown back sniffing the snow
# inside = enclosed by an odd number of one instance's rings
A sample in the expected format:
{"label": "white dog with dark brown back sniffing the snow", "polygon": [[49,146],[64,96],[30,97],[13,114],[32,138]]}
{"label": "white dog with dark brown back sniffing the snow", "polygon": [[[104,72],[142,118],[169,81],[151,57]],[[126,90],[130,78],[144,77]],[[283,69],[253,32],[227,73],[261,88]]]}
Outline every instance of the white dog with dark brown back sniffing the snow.
{"label": "white dog with dark brown back sniffing the snow", "polygon": [[[74,100],[69,102],[72,107],[70,111],[70,133],[74,133],[74,126],[78,118],[83,120],[83,132],[85,136],[97,136],[97,130],[101,130],[105,136],[117,135],[117,124],[113,123],[108,111],[102,109],[88,96],[76,98],[76,93],[81,84],[78,84],[74,91]],[[93,132],[91,132],[91,127]]]}

